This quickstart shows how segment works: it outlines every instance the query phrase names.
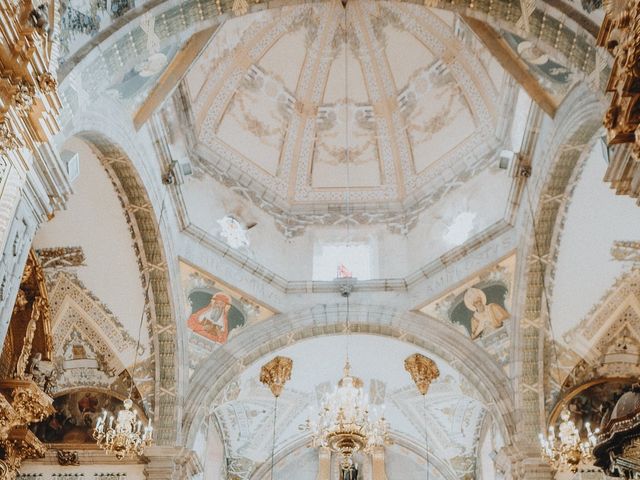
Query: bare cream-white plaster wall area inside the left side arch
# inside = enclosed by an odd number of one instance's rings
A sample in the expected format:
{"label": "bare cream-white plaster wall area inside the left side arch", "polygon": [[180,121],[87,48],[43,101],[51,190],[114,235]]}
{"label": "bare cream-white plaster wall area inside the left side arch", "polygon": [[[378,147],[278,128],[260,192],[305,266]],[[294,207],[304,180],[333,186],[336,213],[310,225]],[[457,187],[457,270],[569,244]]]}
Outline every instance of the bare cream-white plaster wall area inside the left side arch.
{"label": "bare cream-white plaster wall area inside the left side arch", "polygon": [[[34,247],[81,246],[86,265],[75,270],[78,278],[118,318],[128,333],[138,337],[144,305],[140,271],[129,226],[111,181],[91,149],[71,139],[65,149],[80,154],[80,176],[67,208],[38,230]],[[141,345],[148,343],[146,328]],[[124,352],[125,365],[134,352]],[[129,358],[130,357],[130,358]]]}

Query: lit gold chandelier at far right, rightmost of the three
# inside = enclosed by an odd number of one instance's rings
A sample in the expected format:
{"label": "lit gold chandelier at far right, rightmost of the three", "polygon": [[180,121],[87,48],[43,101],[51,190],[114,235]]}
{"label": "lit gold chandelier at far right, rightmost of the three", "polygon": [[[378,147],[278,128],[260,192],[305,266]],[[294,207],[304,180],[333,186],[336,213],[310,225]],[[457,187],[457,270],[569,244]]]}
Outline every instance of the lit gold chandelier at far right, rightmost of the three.
{"label": "lit gold chandelier at far right, rightmost of the three", "polygon": [[586,439],[582,439],[576,424],[571,420],[571,413],[565,407],[560,412],[558,432],[552,426],[545,437],[540,434],[542,455],[549,461],[555,471],[576,472],[580,464],[593,462],[592,450],[598,440],[600,429],[591,430],[591,425],[585,423]]}

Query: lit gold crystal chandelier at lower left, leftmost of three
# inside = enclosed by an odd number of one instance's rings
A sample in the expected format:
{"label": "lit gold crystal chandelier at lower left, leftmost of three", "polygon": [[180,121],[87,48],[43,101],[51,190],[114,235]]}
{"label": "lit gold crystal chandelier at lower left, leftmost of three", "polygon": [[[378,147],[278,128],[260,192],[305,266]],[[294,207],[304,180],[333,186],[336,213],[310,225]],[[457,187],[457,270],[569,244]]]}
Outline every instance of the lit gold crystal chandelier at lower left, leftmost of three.
{"label": "lit gold crystal chandelier at lower left, leftmost of three", "polygon": [[118,460],[127,455],[142,455],[145,447],[151,444],[153,434],[151,420],[143,427],[137,413],[131,410],[133,401],[130,398],[127,398],[123,405],[124,408],[115,418],[105,410],[102,416],[98,417],[93,431],[93,438],[98,446],[108,453],[113,453]]}

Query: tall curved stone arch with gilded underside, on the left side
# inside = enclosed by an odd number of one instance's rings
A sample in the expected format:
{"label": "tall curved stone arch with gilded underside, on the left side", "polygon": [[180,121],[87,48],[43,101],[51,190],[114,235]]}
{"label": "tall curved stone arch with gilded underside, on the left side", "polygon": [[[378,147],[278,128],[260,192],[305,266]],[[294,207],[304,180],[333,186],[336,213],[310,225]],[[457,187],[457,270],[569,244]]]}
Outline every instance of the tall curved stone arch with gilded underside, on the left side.
{"label": "tall curved stone arch with gilded underside, on the left side", "polygon": [[[118,195],[130,228],[133,248],[143,291],[147,291],[149,309],[147,326],[154,355],[155,442],[175,444],[179,435],[181,334],[175,326],[171,278],[171,237],[166,226],[167,212],[162,212],[160,194],[149,180],[149,166],[135,147],[131,129],[118,119],[84,112],[65,131],[66,138],[76,137],[95,152]],[[105,133],[108,132],[108,133]],[[117,140],[116,140],[117,139]],[[170,207],[166,200],[167,209]],[[163,214],[164,220],[160,221]]]}

